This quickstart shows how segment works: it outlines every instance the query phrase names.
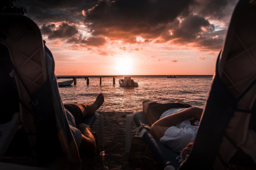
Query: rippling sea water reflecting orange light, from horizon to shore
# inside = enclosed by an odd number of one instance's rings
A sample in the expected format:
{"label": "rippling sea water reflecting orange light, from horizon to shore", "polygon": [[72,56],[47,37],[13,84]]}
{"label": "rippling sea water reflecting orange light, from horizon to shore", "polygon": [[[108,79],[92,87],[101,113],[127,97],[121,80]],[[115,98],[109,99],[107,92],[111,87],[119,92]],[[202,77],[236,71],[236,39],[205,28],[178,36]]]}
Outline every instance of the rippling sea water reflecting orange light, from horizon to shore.
{"label": "rippling sea water reflecting orange light, from horizon to shore", "polygon": [[[176,75],[177,76],[177,75]],[[124,76],[115,78],[89,78],[89,85],[85,79],[77,79],[76,85],[60,87],[63,103],[90,103],[95,101],[99,93],[104,95],[104,103],[100,111],[134,112],[142,110],[144,100],[168,103],[184,100],[188,104],[204,107],[211,87],[210,76],[131,76],[139,84],[139,87],[120,87],[118,80]],[[67,79],[58,79],[65,81]]]}

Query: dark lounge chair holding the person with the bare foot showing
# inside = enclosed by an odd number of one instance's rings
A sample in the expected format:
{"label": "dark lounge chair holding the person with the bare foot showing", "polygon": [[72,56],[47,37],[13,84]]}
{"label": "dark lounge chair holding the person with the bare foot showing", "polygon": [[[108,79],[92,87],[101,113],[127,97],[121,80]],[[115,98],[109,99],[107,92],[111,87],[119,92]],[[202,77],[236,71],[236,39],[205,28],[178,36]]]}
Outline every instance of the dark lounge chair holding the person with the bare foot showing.
{"label": "dark lounge chair holding the person with the bare foot showing", "polygon": [[[5,81],[0,86],[1,169],[80,169],[78,148],[54,75],[53,56],[38,26],[19,14],[0,14],[0,22],[0,76]],[[95,112],[83,122],[91,127],[95,119],[99,120],[99,145],[103,148],[103,116]],[[21,162],[23,165],[2,162],[16,144],[21,146],[16,149],[27,151],[24,155],[29,161]],[[21,152],[18,159],[23,160],[24,155]]]}

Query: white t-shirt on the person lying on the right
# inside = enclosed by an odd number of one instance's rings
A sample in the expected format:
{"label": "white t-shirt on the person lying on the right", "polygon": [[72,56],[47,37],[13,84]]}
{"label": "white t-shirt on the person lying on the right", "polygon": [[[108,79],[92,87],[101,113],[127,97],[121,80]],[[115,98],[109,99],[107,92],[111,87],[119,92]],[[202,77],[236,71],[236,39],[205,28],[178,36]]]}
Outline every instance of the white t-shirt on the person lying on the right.
{"label": "white t-shirt on the person lying on the right", "polygon": [[[168,115],[180,112],[187,108],[173,108],[164,112],[160,119]],[[176,126],[169,127],[165,132],[164,136],[160,138],[160,142],[167,145],[174,151],[182,151],[187,144],[194,141],[197,126],[192,126],[190,120],[194,118],[187,119]],[[199,125],[199,121],[196,121],[194,124]]]}

